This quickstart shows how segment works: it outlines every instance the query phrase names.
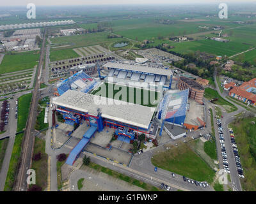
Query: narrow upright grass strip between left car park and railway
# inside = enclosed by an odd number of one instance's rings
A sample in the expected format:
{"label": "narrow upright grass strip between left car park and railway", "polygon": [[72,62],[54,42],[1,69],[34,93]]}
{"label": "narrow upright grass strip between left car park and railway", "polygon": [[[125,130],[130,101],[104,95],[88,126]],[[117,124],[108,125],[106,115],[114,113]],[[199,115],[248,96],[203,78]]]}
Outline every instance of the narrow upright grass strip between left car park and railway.
{"label": "narrow upright grass strip between left car park and railway", "polygon": [[31,102],[32,94],[26,94],[20,96],[18,99],[18,122],[17,122],[17,132],[22,131],[26,128],[26,122],[28,119],[29,106]]}

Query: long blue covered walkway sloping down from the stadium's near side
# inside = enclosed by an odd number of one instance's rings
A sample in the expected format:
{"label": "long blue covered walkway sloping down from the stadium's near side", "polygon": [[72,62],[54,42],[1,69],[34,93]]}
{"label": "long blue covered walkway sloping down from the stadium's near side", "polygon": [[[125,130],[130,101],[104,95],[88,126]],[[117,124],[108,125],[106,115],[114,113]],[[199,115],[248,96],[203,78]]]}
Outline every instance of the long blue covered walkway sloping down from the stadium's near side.
{"label": "long blue covered walkway sloping down from the stadium's near side", "polygon": [[92,138],[93,134],[97,131],[97,127],[92,126],[91,128],[84,133],[82,140],[80,140],[79,143],[77,143],[76,147],[74,147],[66,161],[66,164],[72,166],[76,159],[79,157],[79,154],[84,149],[84,147],[90,142],[90,138]]}

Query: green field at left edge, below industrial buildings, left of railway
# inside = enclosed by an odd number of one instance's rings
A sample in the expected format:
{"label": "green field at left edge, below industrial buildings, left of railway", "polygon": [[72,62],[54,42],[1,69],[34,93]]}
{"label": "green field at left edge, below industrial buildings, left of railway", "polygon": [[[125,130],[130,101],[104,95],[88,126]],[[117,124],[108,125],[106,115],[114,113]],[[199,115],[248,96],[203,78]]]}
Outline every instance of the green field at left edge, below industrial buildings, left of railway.
{"label": "green field at left edge, below industrial buildings, left of railway", "polygon": [[6,54],[0,64],[0,75],[34,68],[38,64],[39,51]]}

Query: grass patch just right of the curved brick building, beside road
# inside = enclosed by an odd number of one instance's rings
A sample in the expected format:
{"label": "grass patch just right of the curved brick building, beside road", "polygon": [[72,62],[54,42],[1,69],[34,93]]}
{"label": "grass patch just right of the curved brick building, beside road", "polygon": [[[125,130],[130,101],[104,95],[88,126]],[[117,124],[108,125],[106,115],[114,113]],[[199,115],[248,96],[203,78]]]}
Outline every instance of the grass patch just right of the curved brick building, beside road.
{"label": "grass patch just right of the curved brick building, beside road", "polygon": [[237,107],[232,105],[231,103],[229,103],[228,101],[226,101],[225,99],[223,99],[220,94],[218,94],[218,92],[214,89],[211,88],[206,88],[205,92],[204,92],[204,97],[211,100],[214,98],[218,98],[217,101],[214,101],[213,103],[216,105],[221,105],[223,106],[223,108],[225,108],[225,110],[227,110],[228,113],[230,112],[234,112],[237,110]]}

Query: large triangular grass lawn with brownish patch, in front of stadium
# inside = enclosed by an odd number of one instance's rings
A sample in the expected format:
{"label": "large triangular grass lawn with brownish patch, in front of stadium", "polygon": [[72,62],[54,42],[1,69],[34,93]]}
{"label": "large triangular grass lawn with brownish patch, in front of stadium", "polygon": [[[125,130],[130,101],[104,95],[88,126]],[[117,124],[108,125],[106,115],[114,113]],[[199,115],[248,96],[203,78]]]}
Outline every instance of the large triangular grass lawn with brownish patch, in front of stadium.
{"label": "large triangular grass lawn with brownish patch, in front of stadium", "polygon": [[184,143],[154,155],[151,161],[154,166],[198,181],[206,180],[212,183],[215,175],[214,171]]}

